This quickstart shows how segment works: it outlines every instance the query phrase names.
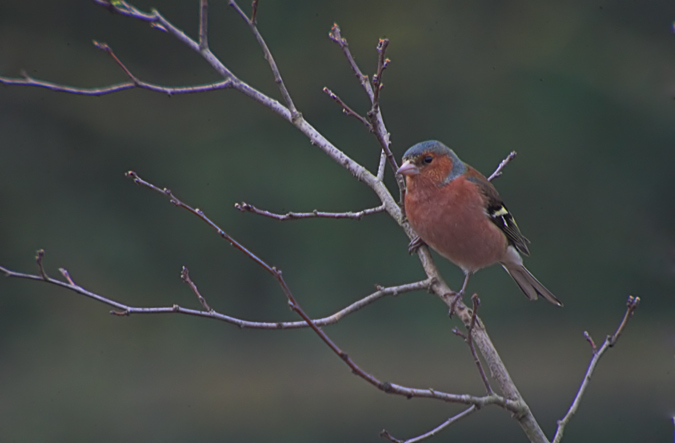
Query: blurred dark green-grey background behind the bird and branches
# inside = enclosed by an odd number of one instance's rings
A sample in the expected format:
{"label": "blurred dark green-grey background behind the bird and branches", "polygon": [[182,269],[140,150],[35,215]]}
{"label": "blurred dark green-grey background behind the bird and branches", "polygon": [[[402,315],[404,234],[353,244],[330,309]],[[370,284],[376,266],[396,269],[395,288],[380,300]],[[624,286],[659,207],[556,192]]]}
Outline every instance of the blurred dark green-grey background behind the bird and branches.
{"label": "blurred dark green-grey background behind the bird and branches", "polygon": [[[195,35],[198,1],[157,7]],[[522,394],[552,436],[597,342],[629,294],[642,298],[601,361],[565,441],[672,441],[675,415],[675,4],[670,1],[260,2],[258,23],[303,115],[373,169],[378,145],[341,114],[367,101],[327,34],[340,24],[364,72],[391,40],[382,107],[400,156],[436,138],[484,173],[519,156],[496,185],[532,240],[528,267],[561,298],[528,303],[498,267],[470,285]],[[249,10],[249,4],[242,7]],[[246,25],[212,2],[210,42],[242,79],[278,97]],[[218,80],[170,36],[87,2],[0,5],[0,75],[21,69],[81,87],[126,78],[91,44],[108,43],[141,79]],[[275,222],[233,208],[360,210],[373,193],[292,126],[233,91],[80,97],[0,87],[0,264],[67,268],[124,303],[198,303],[250,320],[295,319],[276,283],[205,224],[124,178],[133,169],[204,209],[284,270],[313,316],[423,277],[386,215]],[[391,180],[388,171],[388,180]],[[391,183],[391,181],[390,181]],[[446,280],[461,272],[438,261]],[[372,388],[310,331],[255,331],[181,316],[108,315],[41,283],[0,281],[0,441],[346,442],[411,437],[460,406]],[[482,392],[446,308],[425,292],[385,299],[327,328],[375,376]],[[525,441],[487,408],[432,441]]]}

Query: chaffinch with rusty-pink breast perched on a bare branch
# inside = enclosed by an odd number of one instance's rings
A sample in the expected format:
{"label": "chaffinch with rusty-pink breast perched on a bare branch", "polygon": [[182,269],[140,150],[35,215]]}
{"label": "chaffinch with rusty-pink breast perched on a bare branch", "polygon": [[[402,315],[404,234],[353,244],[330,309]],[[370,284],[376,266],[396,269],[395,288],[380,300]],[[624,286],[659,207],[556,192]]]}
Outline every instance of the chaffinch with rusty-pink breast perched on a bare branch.
{"label": "chaffinch with rusty-pink breast perched on a bare branch", "polygon": [[396,174],[405,177],[405,215],[418,238],[464,271],[459,297],[476,271],[501,264],[530,300],[562,302],[523,265],[530,241],[520,232],[497,189],[437,140],[415,144]]}

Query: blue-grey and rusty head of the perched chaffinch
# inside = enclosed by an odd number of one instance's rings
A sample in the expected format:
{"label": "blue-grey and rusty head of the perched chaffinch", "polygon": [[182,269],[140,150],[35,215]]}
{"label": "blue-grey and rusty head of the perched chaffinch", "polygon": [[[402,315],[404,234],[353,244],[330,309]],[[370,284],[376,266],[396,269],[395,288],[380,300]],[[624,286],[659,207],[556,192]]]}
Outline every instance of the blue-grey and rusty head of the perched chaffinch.
{"label": "blue-grey and rusty head of the perched chaffinch", "polygon": [[417,143],[403,154],[403,164],[396,171],[405,176],[406,185],[430,181],[444,186],[466,171],[466,165],[457,154],[443,143],[428,140]]}

